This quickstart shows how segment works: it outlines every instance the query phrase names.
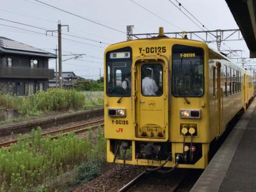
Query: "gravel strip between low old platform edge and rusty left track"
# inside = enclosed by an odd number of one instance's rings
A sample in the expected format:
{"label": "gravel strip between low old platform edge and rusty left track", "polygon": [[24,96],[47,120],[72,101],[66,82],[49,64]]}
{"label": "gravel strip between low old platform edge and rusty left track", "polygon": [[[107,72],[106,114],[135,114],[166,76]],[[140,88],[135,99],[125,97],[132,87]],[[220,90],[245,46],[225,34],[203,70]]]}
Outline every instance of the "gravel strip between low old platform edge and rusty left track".
{"label": "gravel strip between low old platform edge and rusty left track", "polygon": [[[97,121],[97,120],[102,120],[103,118],[104,118],[104,116],[97,116],[95,118],[90,118],[88,120],[83,120],[83,121],[79,121],[79,122],[70,122],[68,124],[52,126],[52,127],[47,128],[47,129],[42,129],[42,133],[49,132],[49,131],[60,130],[60,129],[64,129],[64,128],[71,127],[71,126],[74,126],[74,125],[90,123],[90,122],[94,122],[94,121]],[[29,133],[24,133],[22,135],[28,135],[28,134],[30,134],[30,132]],[[0,143],[6,142],[6,141],[17,140],[18,136],[19,136],[19,134],[12,134],[10,136],[2,136],[2,137],[0,137]]]}

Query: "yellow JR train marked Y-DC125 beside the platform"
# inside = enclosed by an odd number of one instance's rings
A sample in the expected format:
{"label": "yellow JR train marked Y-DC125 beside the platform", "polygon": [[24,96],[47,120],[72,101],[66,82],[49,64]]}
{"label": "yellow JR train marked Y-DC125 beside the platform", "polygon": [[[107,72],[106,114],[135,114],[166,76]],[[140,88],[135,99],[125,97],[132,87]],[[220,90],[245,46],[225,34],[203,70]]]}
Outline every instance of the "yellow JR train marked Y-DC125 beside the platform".
{"label": "yellow JR train marked Y-DC125 beside the platform", "polygon": [[[253,76],[204,42],[152,38],[104,53],[107,161],[205,168],[209,148],[253,98]],[[154,168],[152,169],[154,170]]]}

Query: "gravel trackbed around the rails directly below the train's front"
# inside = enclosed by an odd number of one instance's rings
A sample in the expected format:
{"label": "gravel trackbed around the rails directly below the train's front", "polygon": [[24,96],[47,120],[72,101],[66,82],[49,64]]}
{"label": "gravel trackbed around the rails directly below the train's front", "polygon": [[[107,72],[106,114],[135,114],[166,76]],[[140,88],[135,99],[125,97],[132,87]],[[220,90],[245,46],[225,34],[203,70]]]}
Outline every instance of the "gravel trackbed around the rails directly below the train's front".
{"label": "gravel trackbed around the rails directly below the train's front", "polygon": [[[145,170],[141,166],[125,166],[123,172],[113,166],[90,182],[74,188],[72,191],[118,191],[134,177]],[[129,191],[189,191],[202,173],[202,170],[177,169],[172,173],[148,173],[143,175]],[[179,187],[176,188],[176,184]]]}

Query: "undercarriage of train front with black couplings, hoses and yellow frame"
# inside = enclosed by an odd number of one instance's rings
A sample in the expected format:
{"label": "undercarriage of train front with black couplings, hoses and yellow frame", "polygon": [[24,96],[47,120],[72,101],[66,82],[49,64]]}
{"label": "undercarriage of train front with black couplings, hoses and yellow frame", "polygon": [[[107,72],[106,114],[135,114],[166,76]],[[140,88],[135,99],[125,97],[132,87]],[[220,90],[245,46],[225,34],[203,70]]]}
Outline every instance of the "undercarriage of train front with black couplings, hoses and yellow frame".
{"label": "undercarriage of train front with black couplings, hoses and yellow frame", "polygon": [[108,162],[123,166],[205,168],[208,162],[209,143],[108,140],[107,147]]}

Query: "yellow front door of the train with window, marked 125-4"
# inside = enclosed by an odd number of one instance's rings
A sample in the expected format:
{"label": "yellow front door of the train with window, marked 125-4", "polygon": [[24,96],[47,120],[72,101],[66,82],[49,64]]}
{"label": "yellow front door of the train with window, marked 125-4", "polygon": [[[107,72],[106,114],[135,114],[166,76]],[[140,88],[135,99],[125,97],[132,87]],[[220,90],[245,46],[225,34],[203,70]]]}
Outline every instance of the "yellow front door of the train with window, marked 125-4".
{"label": "yellow front door of the train with window, marked 125-4", "polygon": [[166,65],[160,60],[137,62],[136,137],[168,140]]}

